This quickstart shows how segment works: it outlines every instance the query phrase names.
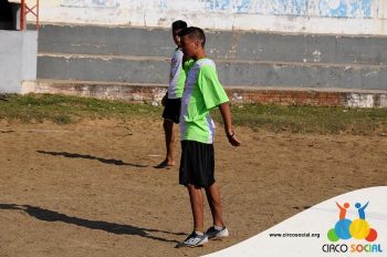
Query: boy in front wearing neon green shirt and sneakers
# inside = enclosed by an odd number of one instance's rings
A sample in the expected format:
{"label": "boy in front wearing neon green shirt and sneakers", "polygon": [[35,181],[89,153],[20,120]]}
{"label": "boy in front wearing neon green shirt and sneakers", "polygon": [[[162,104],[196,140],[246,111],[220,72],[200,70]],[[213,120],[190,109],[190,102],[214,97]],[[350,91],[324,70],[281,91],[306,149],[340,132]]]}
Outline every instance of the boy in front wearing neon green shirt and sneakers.
{"label": "boy in front wearing neon green shirt and sneakers", "polygon": [[[181,97],[180,132],[181,160],[179,183],[187,186],[192,215],[194,232],[177,247],[196,247],[208,239],[229,235],[222,217],[219,187],[215,181],[215,123],[210,111],[219,107],[224,123],[226,135],[233,146],[241,143],[232,125],[229,99],[221,86],[216,65],[206,56],[206,37],[201,29],[190,27],[179,32],[185,55],[195,63],[189,70]],[[213,226],[203,230],[203,194],[211,208]]]}

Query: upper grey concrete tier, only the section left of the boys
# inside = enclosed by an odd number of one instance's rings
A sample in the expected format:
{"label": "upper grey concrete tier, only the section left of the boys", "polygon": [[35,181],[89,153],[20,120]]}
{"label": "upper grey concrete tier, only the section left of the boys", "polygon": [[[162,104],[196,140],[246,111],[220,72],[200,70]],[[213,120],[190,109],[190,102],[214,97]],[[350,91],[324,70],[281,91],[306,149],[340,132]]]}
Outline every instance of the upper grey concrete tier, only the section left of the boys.
{"label": "upper grey concrete tier, only the section left of the boys", "polygon": [[39,52],[170,56],[174,50],[165,29],[43,24],[39,30]]}

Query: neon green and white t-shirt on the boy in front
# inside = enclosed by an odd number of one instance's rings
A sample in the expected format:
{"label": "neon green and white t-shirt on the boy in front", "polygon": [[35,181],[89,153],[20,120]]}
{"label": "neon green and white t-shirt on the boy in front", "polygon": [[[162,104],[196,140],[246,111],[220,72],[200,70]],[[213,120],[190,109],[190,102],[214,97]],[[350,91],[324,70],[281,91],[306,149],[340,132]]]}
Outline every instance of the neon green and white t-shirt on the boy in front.
{"label": "neon green and white t-shirt on the boy in front", "polygon": [[196,61],[188,72],[181,97],[181,140],[212,144],[215,123],[210,111],[228,101],[213,61]]}

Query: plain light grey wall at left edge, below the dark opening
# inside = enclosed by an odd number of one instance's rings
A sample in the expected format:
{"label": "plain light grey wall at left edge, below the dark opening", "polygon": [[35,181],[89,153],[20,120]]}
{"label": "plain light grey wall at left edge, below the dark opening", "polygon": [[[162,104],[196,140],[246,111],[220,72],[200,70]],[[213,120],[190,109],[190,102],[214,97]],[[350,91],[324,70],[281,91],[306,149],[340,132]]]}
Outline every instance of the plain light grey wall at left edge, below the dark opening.
{"label": "plain light grey wall at left edge, below the dark opening", "polygon": [[0,30],[0,93],[20,93],[36,80],[38,32]]}

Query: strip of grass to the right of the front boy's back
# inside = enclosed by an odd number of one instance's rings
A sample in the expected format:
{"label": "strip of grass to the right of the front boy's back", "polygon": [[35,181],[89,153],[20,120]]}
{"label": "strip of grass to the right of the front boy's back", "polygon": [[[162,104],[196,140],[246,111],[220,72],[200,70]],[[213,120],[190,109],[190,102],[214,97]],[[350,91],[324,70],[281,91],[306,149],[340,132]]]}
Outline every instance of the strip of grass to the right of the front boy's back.
{"label": "strip of grass to the right of the front boy's back", "polygon": [[[313,134],[387,133],[387,109],[233,105],[233,124],[253,130]],[[215,115],[221,121],[219,112]]]}

